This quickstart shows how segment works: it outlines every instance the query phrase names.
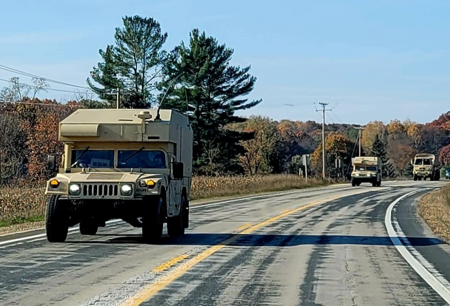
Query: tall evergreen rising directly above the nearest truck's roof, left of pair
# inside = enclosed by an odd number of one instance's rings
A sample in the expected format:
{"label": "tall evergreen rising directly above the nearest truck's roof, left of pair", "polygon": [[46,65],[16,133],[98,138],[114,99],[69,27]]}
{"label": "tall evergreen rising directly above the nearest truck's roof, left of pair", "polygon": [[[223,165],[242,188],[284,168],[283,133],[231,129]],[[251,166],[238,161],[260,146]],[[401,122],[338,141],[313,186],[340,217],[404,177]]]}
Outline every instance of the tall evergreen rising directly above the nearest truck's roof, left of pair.
{"label": "tall evergreen rising directly above the nearest truck's roof, left of pair", "polygon": [[99,53],[103,62],[94,67],[90,75],[100,84],[96,86],[87,78],[89,87],[109,102],[116,105],[119,88],[121,108],[148,108],[155,104],[156,78],[160,76],[161,64],[166,52],[161,50],[167,38],[160,24],[152,18],[139,16],[123,18],[123,28],[116,28],[115,46],[108,45]]}

